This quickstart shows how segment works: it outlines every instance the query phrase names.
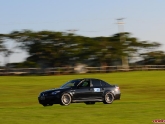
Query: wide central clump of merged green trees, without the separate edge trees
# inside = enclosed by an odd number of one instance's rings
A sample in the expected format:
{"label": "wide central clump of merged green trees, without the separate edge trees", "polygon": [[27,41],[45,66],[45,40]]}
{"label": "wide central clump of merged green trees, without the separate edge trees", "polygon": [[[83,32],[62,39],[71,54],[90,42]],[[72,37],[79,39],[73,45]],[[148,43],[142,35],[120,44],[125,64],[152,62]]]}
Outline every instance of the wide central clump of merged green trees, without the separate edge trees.
{"label": "wide central clump of merged green trees, without the separate edge trees", "polygon": [[24,30],[4,36],[21,43],[20,47],[30,55],[27,61],[33,61],[41,67],[74,65],[78,62],[112,65],[114,60],[120,60],[122,56],[133,56],[139,50],[160,45],[139,41],[128,32],[90,38],[63,32]]}

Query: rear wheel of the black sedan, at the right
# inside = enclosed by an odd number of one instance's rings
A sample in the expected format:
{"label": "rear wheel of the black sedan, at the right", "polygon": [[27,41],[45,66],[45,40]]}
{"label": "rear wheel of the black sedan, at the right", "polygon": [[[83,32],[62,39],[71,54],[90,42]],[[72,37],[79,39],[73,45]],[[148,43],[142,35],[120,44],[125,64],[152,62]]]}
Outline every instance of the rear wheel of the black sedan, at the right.
{"label": "rear wheel of the black sedan, at the right", "polygon": [[104,104],[111,104],[111,103],[113,103],[113,101],[114,101],[114,95],[113,95],[113,93],[107,92],[104,95],[104,101],[103,101],[103,103]]}

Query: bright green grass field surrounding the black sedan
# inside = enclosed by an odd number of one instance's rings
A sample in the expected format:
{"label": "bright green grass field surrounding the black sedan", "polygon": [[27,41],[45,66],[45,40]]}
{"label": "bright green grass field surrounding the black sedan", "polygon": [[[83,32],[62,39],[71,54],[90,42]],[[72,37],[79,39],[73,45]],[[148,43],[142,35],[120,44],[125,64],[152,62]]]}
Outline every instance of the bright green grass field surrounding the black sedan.
{"label": "bright green grass field surrounding the black sedan", "polygon": [[[118,84],[121,100],[108,105],[38,104],[41,91],[87,77]],[[154,119],[165,119],[165,71],[0,77],[0,124],[152,124]]]}

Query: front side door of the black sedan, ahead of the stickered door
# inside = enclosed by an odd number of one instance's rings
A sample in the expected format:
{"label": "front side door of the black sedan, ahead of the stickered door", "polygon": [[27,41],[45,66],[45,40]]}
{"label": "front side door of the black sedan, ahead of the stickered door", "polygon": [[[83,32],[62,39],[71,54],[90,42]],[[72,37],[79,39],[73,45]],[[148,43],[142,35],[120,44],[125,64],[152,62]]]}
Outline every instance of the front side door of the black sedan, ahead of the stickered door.
{"label": "front side door of the black sedan, ahead of the stickered door", "polygon": [[74,91],[73,100],[88,100],[91,99],[93,89],[90,88],[90,80],[84,80],[78,84]]}

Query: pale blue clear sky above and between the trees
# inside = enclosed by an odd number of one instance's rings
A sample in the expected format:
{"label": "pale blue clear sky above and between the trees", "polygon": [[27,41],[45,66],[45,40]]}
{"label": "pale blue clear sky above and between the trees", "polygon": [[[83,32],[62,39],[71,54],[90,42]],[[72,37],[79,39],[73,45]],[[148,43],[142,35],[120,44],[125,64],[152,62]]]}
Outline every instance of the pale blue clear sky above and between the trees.
{"label": "pale blue clear sky above and between the trees", "polygon": [[[165,0],[0,0],[0,34],[29,29],[60,31],[82,36],[111,36],[123,31],[141,41],[159,42],[165,51]],[[14,49],[14,43],[6,43]],[[16,50],[10,62],[21,62],[27,53]],[[4,57],[0,55],[0,65]]]}

